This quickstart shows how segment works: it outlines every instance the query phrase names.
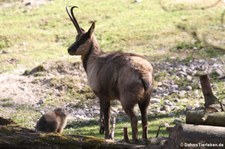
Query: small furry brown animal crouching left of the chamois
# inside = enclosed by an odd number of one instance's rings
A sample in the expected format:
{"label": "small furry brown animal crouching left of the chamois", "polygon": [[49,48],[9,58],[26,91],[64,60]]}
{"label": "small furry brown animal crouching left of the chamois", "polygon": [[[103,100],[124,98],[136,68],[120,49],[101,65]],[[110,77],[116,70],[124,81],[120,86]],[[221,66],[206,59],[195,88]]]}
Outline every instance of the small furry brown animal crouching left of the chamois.
{"label": "small furry brown animal crouching left of the chamois", "polygon": [[37,122],[36,130],[47,133],[62,133],[66,126],[67,115],[61,108],[45,113]]}

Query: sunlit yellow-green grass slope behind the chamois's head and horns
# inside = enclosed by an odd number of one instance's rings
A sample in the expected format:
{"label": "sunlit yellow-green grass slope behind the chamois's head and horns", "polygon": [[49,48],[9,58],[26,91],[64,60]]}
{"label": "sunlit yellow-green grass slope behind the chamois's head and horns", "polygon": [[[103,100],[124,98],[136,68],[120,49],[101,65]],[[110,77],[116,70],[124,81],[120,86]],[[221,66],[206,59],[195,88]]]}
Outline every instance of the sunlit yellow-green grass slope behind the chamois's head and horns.
{"label": "sunlit yellow-green grass slope behind the chamois's head and horns", "polygon": [[[168,8],[172,1],[165,3]],[[209,1],[213,2],[213,1]],[[70,22],[66,5],[78,5],[76,17],[84,29],[91,20],[96,20],[95,34],[105,51],[121,50],[135,52],[161,59],[175,55],[168,49],[185,46],[191,38],[177,30],[178,24],[195,27],[200,32],[213,32],[212,27],[219,25],[222,4],[206,10],[164,11],[159,1],[132,3],[130,0],[89,1],[55,0],[47,5],[28,9],[19,2],[9,8],[0,8],[0,72],[15,68],[34,67],[48,59],[67,57],[67,47],[73,42],[76,31]],[[179,4],[175,4],[177,7]],[[203,5],[204,4],[199,4]],[[216,35],[214,29],[213,35]],[[224,32],[223,32],[224,33]],[[219,35],[221,39],[223,34]],[[183,44],[180,44],[183,43]],[[161,51],[160,49],[166,49]],[[206,52],[207,53],[207,52]],[[16,63],[10,63],[15,58]]]}

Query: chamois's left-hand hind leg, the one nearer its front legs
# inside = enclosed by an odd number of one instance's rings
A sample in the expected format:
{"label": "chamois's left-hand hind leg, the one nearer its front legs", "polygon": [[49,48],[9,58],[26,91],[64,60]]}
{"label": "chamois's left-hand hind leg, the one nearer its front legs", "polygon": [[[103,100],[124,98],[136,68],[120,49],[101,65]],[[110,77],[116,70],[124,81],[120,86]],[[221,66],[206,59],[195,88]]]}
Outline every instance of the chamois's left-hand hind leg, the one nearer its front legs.
{"label": "chamois's left-hand hind leg, the one nearer its front legs", "polygon": [[[125,102],[123,102],[123,101],[125,101]],[[128,99],[127,99],[127,101],[126,101],[126,99],[122,99],[121,104],[122,104],[124,111],[130,118],[133,142],[137,143],[138,142],[138,128],[137,128],[137,117],[134,113],[135,103],[129,102]]]}

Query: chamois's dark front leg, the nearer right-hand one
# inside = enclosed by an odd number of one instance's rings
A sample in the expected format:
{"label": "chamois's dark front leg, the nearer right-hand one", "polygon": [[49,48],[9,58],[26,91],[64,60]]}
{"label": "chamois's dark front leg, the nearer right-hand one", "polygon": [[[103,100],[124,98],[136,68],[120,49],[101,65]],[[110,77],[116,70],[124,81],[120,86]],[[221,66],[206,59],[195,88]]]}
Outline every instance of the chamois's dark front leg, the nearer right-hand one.
{"label": "chamois's dark front leg, the nearer right-hand one", "polygon": [[[110,139],[109,125],[110,125],[110,101],[100,99],[100,115],[103,113],[103,123],[105,131],[105,139]],[[100,116],[101,117],[101,116]],[[101,130],[101,128],[100,128]]]}

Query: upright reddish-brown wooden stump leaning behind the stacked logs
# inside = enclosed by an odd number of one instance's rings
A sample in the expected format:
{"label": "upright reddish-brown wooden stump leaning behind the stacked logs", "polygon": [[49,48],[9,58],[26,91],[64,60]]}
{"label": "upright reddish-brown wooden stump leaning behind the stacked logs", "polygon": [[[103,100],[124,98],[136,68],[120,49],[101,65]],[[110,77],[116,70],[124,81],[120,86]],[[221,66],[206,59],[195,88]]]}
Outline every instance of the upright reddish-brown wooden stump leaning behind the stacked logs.
{"label": "upright reddish-brown wooden stump leaning behind the stacked logs", "polygon": [[211,85],[209,82],[209,76],[201,75],[200,82],[202,86],[202,93],[205,99],[205,108],[208,108],[211,104],[218,103],[218,99],[216,98],[216,96],[214,96],[212,92]]}

